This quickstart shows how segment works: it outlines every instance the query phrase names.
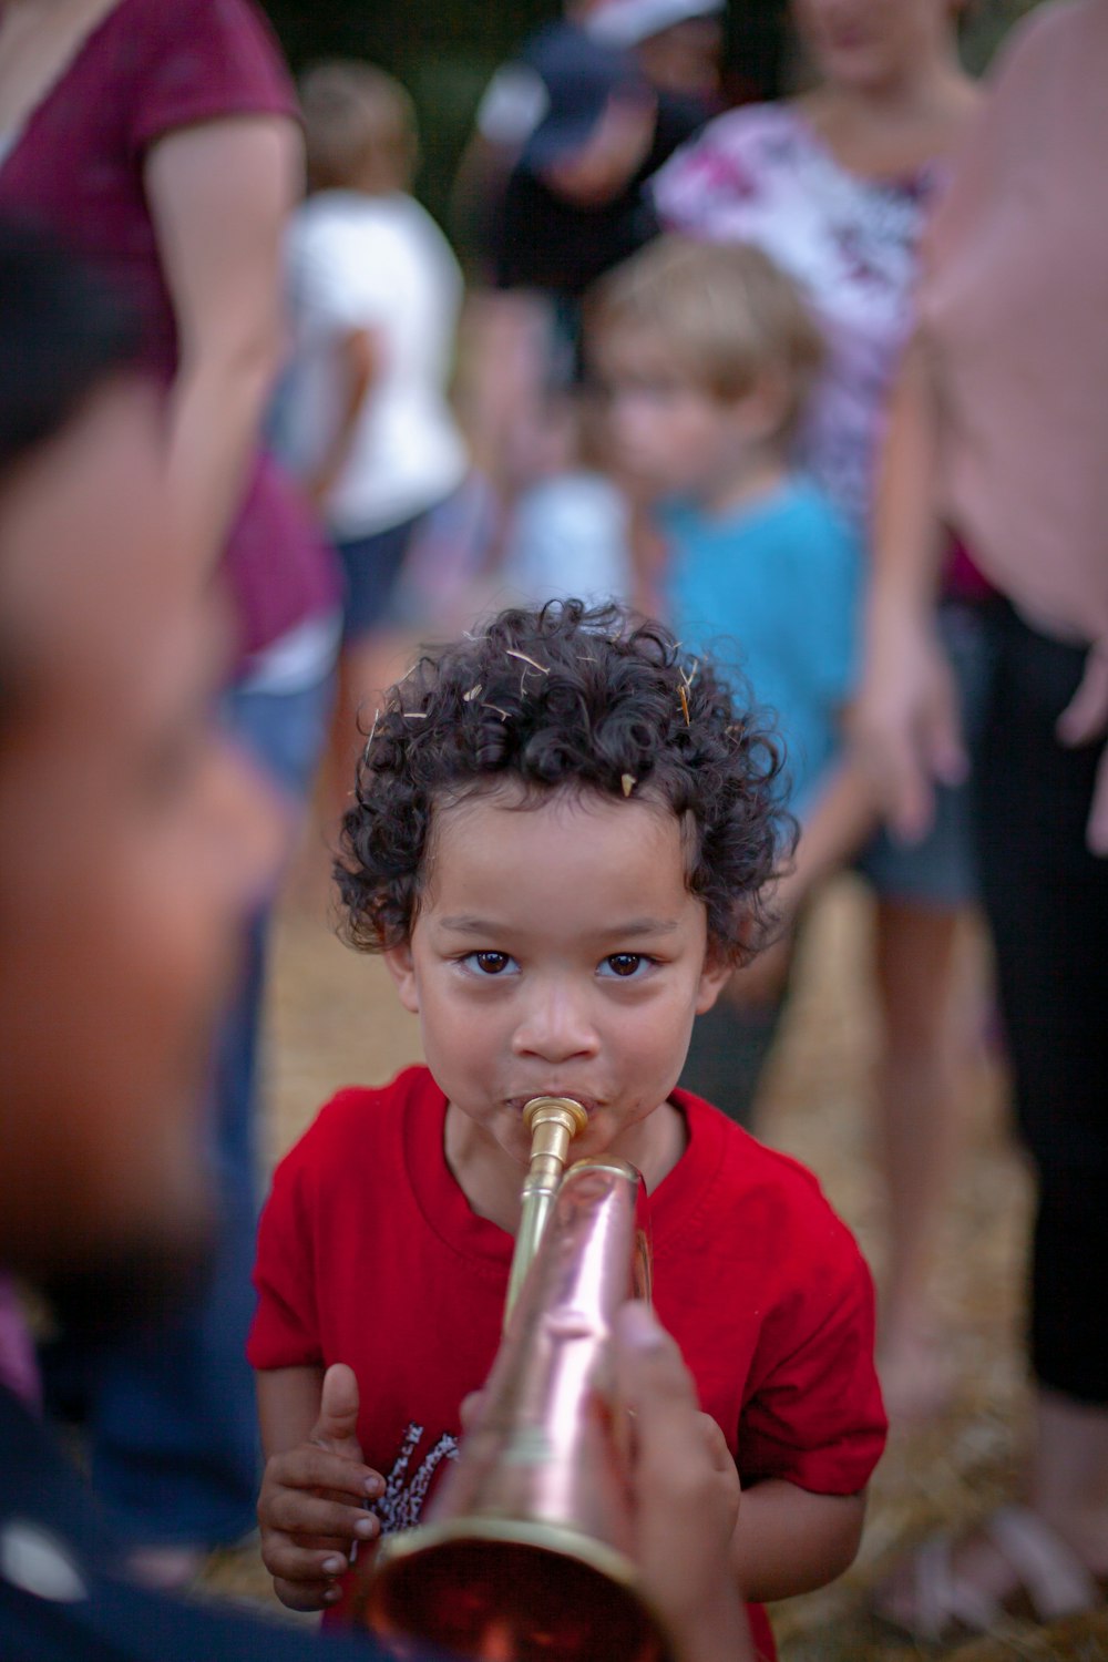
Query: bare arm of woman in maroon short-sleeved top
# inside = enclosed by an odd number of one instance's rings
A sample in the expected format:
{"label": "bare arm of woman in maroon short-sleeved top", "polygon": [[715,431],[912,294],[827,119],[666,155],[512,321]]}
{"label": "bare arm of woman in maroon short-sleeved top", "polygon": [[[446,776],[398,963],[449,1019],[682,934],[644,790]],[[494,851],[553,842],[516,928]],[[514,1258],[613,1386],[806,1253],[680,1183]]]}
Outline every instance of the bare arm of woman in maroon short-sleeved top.
{"label": "bare arm of woman in maroon short-sleeved top", "polygon": [[145,183],[178,326],[169,479],[208,577],[284,347],[281,241],[299,196],[299,131],[267,115],[181,128],[151,148]]}

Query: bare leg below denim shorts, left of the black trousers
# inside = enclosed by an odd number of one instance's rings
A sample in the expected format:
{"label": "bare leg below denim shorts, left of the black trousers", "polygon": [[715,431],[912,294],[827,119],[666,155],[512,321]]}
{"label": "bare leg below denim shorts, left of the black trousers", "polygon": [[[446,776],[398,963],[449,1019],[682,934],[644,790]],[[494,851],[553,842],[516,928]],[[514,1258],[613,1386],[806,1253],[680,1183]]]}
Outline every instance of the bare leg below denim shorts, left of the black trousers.
{"label": "bare leg below denim shorts, left of the black trousers", "polygon": [[929,1283],[960,1142],[960,919],[955,907],[877,904],[882,1049],[874,1089],[887,1215],[879,1371],[894,1419],[932,1413],[950,1386]]}

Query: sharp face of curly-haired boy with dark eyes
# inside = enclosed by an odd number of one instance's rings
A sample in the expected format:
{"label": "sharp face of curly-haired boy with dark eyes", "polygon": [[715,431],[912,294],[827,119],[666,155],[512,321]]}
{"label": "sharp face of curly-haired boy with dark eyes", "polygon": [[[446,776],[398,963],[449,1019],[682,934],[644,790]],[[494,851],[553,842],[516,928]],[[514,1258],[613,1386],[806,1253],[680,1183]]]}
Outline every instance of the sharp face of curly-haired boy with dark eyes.
{"label": "sharp face of curly-haired boy with dark eyes", "polygon": [[679,821],[600,794],[515,803],[500,791],[439,814],[410,944],[387,954],[400,1001],[517,1187],[538,1095],[588,1110],[575,1158],[613,1150],[650,1170],[651,1115],[728,976],[706,962]]}

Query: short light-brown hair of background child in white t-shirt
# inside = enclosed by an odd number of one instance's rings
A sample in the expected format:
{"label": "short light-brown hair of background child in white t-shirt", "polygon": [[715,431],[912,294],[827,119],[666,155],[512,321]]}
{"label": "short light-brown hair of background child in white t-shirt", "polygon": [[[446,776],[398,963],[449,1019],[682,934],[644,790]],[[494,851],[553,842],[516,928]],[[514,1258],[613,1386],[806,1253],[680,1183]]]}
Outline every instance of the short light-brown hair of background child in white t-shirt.
{"label": "short light-brown hair of background child in white t-shirt", "polygon": [[332,60],[299,83],[309,189],[407,189],[419,160],[415,106],[372,63]]}

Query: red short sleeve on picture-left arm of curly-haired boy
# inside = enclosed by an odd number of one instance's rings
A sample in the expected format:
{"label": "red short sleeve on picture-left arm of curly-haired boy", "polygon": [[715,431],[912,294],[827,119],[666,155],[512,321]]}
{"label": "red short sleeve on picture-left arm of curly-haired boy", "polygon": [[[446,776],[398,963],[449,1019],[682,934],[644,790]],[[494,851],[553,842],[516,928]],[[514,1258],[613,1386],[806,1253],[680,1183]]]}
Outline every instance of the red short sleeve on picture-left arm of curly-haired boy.
{"label": "red short sleeve on picture-left arm of curly-haired boy", "polygon": [[246,1345],[252,1368],[322,1365],[309,1185],[297,1143],[274,1173],[257,1230],[257,1310]]}

